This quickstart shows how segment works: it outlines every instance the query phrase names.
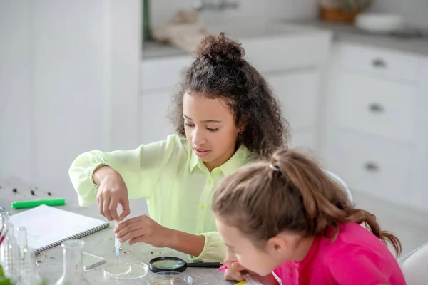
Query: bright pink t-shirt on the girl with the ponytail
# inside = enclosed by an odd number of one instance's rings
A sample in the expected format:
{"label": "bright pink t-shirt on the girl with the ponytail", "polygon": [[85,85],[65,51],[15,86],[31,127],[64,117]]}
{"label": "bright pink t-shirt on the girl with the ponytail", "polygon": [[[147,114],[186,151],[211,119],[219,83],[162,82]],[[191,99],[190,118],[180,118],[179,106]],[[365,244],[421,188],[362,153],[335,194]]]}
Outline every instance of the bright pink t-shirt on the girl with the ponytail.
{"label": "bright pink t-shirt on the girl with the ponytail", "polygon": [[342,225],[335,242],[315,238],[305,259],[287,261],[274,272],[285,285],[406,284],[389,249],[356,223]]}

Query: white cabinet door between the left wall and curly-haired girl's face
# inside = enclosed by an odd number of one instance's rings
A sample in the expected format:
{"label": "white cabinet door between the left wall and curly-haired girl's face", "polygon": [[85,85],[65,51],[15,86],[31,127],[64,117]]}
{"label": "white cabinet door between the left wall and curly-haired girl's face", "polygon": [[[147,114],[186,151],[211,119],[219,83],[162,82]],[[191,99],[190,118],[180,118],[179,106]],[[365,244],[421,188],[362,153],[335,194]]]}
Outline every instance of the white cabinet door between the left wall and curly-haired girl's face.
{"label": "white cabinet door between the left wall and curly-haired girl's face", "polygon": [[168,118],[168,110],[174,90],[143,93],[138,98],[139,139],[143,144],[165,140],[175,133]]}

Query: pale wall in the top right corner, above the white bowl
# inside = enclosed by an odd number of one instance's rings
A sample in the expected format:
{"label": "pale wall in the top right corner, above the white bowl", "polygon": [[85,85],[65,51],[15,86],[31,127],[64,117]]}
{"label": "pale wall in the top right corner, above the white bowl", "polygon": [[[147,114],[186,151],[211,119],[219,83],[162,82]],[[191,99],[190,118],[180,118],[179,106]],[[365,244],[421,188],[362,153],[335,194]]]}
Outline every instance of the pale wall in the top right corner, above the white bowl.
{"label": "pale wall in the top right corner, above the white bowl", "polygon": [[373,10],[401,14],[409,24],[428,28],[427,0],[375,0]]}

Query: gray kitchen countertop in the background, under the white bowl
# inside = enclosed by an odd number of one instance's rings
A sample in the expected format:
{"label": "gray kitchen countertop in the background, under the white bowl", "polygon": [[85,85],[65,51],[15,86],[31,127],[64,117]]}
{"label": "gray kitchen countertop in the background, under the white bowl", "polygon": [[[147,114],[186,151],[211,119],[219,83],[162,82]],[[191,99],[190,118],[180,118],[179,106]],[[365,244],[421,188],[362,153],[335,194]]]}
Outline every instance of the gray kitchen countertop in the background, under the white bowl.
{"label": "gray kitchen countertop in the background, under the white bowl", "polygon": [[[334,41],[340,43],[354,43],[363,46],[387,48],[392,51],[413,53],[419,56],[428,56],[428,31],[424,31],[424,37],[422,38],[400,38],[395,36],[365,33],[349,24],[332,24],[318,19],[293,21],[277,19],[275,20],[274,26],[277,27],[279,22],[284,26],[290,24],[293,26],[297,25],[310,28],[312,30],[332,31],[334,34]],[[266,24],[263,24],[263,26],[266,26]],[[243,31],[244,30],[245,29],[243,28]],[[282,33],[280,29],[276,28],[272,28],[272,33],[273,31],[276,31],[278,35]],[[175,46],[156,42],[143,43],[143,59],[185,55],[188,55],[186,51]]]}

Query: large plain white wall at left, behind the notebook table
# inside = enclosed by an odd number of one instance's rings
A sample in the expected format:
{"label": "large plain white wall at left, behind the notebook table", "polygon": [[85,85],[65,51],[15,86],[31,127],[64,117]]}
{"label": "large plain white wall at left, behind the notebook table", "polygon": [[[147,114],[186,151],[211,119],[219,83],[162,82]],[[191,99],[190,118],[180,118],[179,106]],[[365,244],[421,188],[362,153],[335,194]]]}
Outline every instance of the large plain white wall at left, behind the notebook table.
{"label": "large plain white wall at left, behind the notebook table", "polygon": [[73,159],[138,145],[139,0],[0,1],[0,177],[76,199]]}

